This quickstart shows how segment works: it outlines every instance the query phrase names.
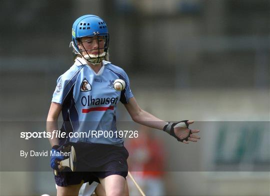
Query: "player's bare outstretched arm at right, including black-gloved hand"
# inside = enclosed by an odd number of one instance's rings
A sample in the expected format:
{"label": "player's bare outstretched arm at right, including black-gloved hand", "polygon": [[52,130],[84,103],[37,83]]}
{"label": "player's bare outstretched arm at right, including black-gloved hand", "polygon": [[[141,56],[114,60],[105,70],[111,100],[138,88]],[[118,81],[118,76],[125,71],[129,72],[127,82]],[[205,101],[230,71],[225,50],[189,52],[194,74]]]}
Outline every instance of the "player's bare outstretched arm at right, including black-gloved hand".
{"label": "player's bare outstretched arm at right, including black-gloved hand", "polygon": [[197,142],[200,139],[195,133],[198,133],[197,129],[188,129],[188,126],[194,121],[180,121],[180,122],[165,122],[152,114],[142,110],[137,104],[134,97],[128,100],[128,103],[124,104],[126,110],[131,116],[132,120],[141,125],[159,129],[167,132],[178,141],[188,144],[188,141]]}

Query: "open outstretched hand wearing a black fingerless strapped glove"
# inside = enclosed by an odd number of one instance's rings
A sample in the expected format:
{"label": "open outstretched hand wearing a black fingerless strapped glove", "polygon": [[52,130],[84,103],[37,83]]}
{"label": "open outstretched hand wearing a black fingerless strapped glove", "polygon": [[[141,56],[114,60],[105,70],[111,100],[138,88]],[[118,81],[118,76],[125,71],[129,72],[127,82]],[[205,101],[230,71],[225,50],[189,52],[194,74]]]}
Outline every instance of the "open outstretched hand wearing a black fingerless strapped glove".
{"label": "open outstretched hand wearing a black fingerless strapped glove", "polygon": [[195,133],[198,133],[199,130],[188,129],[188,126],[192,123],[194,123],[194,121],[184,120],[176,123],[169,122],[164,126],[163,131],[167,132],[169,135],[176,138],[177,141],[184,144],[188,144],[188,141],[197,142],[200,137]]}

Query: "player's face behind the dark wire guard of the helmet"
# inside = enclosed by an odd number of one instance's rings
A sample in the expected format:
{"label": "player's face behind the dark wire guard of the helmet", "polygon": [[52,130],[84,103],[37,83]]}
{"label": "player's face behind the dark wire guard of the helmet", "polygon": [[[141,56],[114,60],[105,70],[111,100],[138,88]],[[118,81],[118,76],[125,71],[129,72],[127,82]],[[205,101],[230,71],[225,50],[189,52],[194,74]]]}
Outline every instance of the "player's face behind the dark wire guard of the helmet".
{"label": "player's face behind the dark wire guard of the helmet", "polygon": [[[104,52],[105,39],[103,36],[82,37],[78,43],[78,48],[82,51],[82,55],[94,54],[98,55]],[[86,51],[87,53],[86,53]]]}

